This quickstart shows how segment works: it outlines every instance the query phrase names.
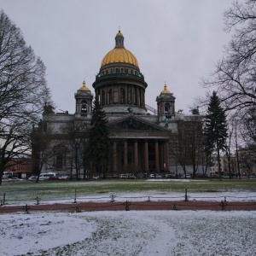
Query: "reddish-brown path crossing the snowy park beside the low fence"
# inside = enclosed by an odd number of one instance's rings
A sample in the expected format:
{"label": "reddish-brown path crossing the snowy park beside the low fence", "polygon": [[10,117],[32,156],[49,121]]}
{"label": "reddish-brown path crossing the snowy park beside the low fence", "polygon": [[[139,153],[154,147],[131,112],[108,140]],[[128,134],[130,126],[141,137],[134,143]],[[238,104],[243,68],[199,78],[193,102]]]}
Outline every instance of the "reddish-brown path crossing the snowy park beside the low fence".
{"label": "reddish-brown path crossing the snowy park beside the low fence", "polygon": [[135,202],[79,202],[73,204],[1,206],[0,214],[12,212],[92,212],[92,211],[152,211],[152,210],[210,210],[256,211],[256,201],[135,201]]}

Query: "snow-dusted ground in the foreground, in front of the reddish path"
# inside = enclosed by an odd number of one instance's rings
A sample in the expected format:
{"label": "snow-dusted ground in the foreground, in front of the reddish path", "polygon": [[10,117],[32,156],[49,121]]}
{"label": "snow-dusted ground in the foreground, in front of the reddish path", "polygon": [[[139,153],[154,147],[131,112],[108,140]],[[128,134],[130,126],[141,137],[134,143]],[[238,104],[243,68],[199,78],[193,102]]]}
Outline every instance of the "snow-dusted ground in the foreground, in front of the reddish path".
{"label": "snow-dusted ground in the foreground, in front of the reddish path", "polygon": [[255,255],[256,212],[0,215],[1,255]]}

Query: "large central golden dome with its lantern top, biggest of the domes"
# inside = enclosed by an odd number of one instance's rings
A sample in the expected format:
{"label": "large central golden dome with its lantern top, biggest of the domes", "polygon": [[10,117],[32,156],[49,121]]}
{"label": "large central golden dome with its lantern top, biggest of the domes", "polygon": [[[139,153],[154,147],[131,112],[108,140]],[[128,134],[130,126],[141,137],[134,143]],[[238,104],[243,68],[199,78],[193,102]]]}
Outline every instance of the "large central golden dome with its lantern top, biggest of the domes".
{"label": "large central golden dome with its lantern top, biggest of the domes", "polygon": [[108,54],[104,56],[101,67],[110,63],[127,63],[138,67],[135,55],[125,49],[124,36],[120,31],[116,34],[114,49],[108,51]]}

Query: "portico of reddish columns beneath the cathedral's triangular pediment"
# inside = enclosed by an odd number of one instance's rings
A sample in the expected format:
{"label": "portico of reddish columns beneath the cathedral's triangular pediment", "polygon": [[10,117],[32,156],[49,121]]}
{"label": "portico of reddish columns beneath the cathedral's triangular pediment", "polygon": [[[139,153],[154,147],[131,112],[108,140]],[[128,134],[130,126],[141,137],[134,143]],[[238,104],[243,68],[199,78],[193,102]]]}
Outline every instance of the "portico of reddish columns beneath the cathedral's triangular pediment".
{"label": "portico of reddish columns beneath the cathedral's triangular pediment", "polygon": [[[131,118],[134,119],[134,118]],[[122,126],[131,125],[131,119],[120,122]],[[118,127],[119,125],[116,125]],[[140,126],[143,126],[140,124]],[[115,128],[116,128],[115,127]],[[111,126],[110,126],[111,130]],[[113,148],[111,152],[112,169],[110,172],[138,173],[163,172],[169,169],[168,133],[122,131],[112,133]]]}

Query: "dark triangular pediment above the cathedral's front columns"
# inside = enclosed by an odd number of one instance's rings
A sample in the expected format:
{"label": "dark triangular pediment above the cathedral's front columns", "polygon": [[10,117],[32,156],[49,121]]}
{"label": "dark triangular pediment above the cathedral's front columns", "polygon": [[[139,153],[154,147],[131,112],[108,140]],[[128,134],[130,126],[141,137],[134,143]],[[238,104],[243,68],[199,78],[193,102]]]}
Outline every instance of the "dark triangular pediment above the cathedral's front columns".
{"label": "dark triangular pediment above the cathedral's front columns", "polygon": [[110,131],[132,131],[132,132],[166,132],[160,125],[148,122],[148,120],[129,115],[128,117],[117,119],[108,123]]}

